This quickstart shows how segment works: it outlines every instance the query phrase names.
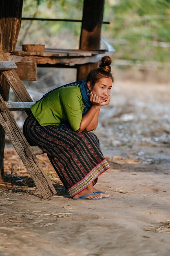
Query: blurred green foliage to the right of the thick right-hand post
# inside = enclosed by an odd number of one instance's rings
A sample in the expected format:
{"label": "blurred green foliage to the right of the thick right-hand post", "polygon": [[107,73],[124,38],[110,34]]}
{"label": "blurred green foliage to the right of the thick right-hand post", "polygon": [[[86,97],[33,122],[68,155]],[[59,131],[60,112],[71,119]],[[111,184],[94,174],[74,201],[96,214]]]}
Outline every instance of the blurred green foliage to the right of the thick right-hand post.
{"label": "blurred green foliage to the right of the thick right-hand post", "polygon": [[169,0],[108,2],[115,3],[110,13],[113,13],[111,36],[117,40],[117,58],[134,62],[170,60]]}

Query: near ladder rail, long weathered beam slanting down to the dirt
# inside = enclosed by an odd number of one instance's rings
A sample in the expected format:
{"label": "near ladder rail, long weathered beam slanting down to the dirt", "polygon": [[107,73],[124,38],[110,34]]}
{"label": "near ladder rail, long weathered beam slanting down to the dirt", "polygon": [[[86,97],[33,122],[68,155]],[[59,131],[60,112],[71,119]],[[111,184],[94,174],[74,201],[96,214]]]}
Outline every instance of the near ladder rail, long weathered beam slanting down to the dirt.
{"label": "near ladder rail, long weathered beam slanting down to the dirt", "polygon": [[[1,95],[0,102],[3,102]],[[0,112],[0,124],[7,133],[7,136],[13,144],[13,147],[20,156],[24,166],[26,167],[26,170],[31,175],[42,197],[46,199],[54,195],[56,191],[48,179],[46,173],[43,171],[38,159],[35,156],[27,157],[25,150],[30,145],[26,141],[24,135],[22,134],[9,110]]]}

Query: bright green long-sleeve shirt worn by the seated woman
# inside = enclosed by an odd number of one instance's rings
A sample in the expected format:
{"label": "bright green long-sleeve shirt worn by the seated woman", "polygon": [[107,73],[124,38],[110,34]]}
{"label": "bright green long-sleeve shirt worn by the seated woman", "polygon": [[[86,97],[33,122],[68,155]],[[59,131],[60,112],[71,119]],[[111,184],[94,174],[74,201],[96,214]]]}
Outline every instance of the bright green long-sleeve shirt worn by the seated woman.
{"label": "bright green long-sleeve shirt worn by the seated woman", "polygon": [[83,110],[79,85],[55,90],[31,106],[31,112],[41,126],[69,123],[73,131],[79,130]]}

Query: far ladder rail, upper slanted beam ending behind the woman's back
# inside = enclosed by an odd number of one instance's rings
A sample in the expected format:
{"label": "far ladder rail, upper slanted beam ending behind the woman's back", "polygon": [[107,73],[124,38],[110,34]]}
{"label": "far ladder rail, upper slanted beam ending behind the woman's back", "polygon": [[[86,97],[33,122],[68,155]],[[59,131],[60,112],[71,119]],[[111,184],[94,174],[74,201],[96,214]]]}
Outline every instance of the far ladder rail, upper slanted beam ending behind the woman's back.
{"label": "far ladder rail, upper slanted beam ending behind the woman's back", "polygon": [[[8,61],[7,56],[2,51],[1,47],[0,47],[0,61]],[[4,71],[3,75],[7,79],[9,85],[11,86],[13,92],[15,93],[19,101],[33,102],[33,99],[30,97],[29,93],[27,92],[25,86],[22,84],[15,70]]]}

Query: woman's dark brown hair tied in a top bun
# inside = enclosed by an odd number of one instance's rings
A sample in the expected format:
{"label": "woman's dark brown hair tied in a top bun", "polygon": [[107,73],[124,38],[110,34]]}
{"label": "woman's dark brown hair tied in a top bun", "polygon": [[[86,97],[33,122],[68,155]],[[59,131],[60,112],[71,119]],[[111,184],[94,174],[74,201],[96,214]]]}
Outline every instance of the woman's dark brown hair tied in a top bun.
{"label": "woman's dark brown hair tied in a top bun", "polygon": [[101,60],[99,68],[95,68],[88,73],[86,81],[90,81],[92,87],[99,81],[99,79],[103,77],[110,77],[112,82],[114,82],[115,79],[111,74],[111,63],[112,59],[109,56],[104,56]]}

